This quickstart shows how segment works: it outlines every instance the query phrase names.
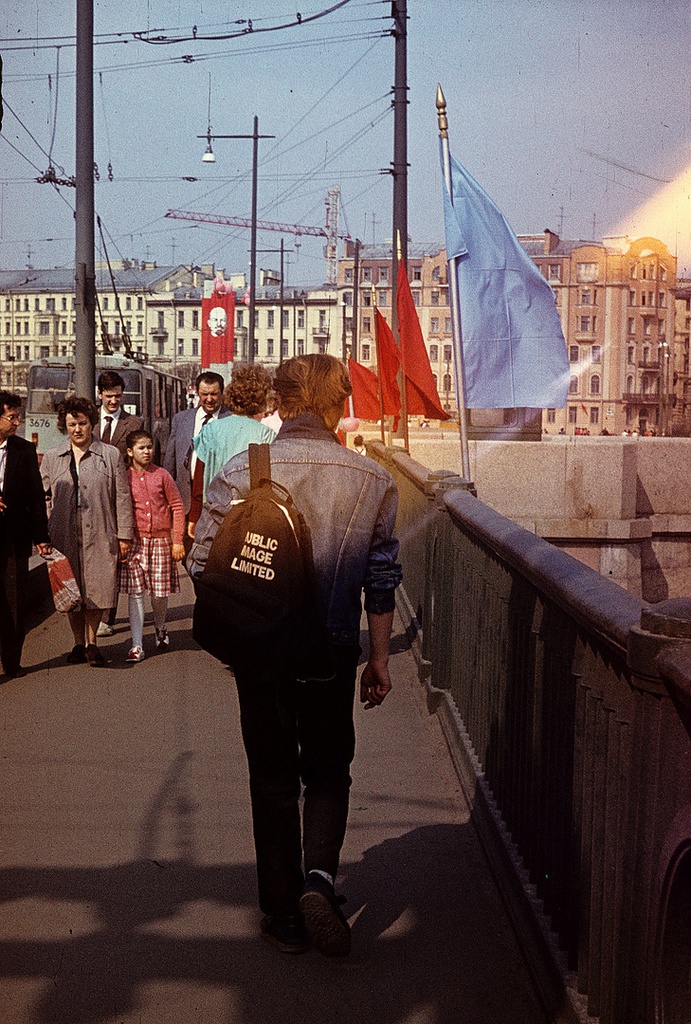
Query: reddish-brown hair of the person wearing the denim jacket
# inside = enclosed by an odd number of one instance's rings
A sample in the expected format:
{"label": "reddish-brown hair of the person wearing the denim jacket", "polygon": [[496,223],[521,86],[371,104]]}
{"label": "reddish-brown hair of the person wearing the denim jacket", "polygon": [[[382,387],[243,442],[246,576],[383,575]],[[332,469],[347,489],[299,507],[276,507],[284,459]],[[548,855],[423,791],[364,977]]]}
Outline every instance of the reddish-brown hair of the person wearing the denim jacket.
{"label": "reddish-brown hair of the person wearing the denim jacket", "polygon": [[314,413],[327,422],[352,394],[345,365],[335,355],[296,355],[275,372],[273,389],[278,395],[283,419],[293,420],[300,413]]}

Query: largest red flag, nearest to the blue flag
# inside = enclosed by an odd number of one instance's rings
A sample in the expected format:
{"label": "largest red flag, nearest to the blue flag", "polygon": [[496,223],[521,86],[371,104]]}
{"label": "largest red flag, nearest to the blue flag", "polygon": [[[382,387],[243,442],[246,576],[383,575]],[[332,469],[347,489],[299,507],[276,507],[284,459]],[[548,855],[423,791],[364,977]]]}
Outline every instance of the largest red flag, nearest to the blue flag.
{"label": "largest red flag, nearest to the blue flag", "polygon": [[430,420],[448,420],[439,400],[429,355],[420,329],[405,264],[398,264],[398,332],[400,334],[400,356],[407,389],[407,412],[426,416]]}

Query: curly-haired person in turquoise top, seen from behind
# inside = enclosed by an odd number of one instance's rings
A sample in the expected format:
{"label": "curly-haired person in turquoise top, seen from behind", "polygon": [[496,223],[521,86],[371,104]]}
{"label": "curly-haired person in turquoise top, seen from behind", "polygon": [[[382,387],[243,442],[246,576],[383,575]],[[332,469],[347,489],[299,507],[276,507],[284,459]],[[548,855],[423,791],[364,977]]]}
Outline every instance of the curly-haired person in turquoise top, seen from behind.
{"label": "curly-haired person in turquoise top, seen from behind", "polygon": [[258,364],[235,367],[223,392],[223,404],[231,415],[212,420],[195,438],[197,466],[189,508],[189,536],[202,514],[209,484],[228,459],[246,452],[249,444],[270,444],[275,431],[259,423],[266,415],[271,377]]}

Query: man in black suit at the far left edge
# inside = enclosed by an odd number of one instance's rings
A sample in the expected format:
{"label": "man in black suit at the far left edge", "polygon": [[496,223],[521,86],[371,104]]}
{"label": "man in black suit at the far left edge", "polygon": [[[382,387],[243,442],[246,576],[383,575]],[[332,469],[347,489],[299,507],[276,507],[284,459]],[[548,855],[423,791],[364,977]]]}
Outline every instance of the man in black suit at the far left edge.
{"label": "man in black suit at the far left edge", "polygon": [[16,437],[18,394],[0,391],[0,656],[7,679],[24,675],[24,602],[32,542],[50,553],[46,502],[36,445]]}

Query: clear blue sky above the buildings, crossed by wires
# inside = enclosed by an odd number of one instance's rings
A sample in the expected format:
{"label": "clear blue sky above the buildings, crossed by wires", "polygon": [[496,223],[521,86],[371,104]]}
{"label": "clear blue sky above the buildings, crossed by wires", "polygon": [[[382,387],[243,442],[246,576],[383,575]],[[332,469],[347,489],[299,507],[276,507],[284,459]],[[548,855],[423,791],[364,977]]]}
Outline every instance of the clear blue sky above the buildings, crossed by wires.
{"label": "clear blue sky above the buildings, crossed by wires", "polygon": [[[196,136],[207,127],[210,76],[214,131],[250,133],[256,114],[260,132],[276,136],[260,142],[261,217],[322,224],[326,193],[338,183],[341,227],[365,242],[391,237],[391,177],[381,173],[392,159],[394,46],[382,35],[391,27],[389,0],[350,0],[306,24],[335,0],[308,2],[96,0],[97,38],[121,33],[128,40],[97,45],[94,54],[96,208],[112,257],[247,270],[248,231],[164,219],[176,207],[250,213],[252,143],[218,141],[216,164],[201,162],[204,143]],[[33,177],[47,167],[49,152],[56,167],[74,173],[75,50],[69,44],[76,4],[19,0],[18,9],[10,6],[0,14],[3,94],[45,152],[6,106],[0,267],[25,266],[30,251],[36,267],[69,266],[74,190],[62,188],[60,197]],[[296,9],[301,26],[256,31],[293,20]],[[571,239],[658,233],[691,275],[687,0],[408,0],[408,16],[415,242],[443,241],[434,106],[439,81],[455,156],[516,231],[551,227]],[[202,38],[242,31],[248,19],[251,35]],[[133,38],[146,30],[191,36],[193,26],[197,39],[180,43]],[[37,36],[50,36],[46,42],[59,49],[45,43],[12,48]],[[664,184],[671,181],[678,185]],[[664,217],[659,210],[642,214],[660,193]],[[279,238],[261,233],[259,246],[276,248]],[[286,246],[293,248],[292,238]],[[321,246],[302,238],[290,255],[289,284],[323,280]],[[271,254],[259,258],[262,266],[276,262]]]}

